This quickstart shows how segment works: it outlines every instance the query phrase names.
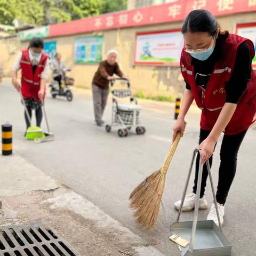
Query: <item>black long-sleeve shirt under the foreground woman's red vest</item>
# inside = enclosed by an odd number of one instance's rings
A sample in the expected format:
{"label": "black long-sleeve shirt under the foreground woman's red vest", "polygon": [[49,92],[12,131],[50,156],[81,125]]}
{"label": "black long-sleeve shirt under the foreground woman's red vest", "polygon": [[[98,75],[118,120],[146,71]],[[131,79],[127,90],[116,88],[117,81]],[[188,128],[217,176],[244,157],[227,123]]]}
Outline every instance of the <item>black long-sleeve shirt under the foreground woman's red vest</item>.
{"label": "black long-sleeve shirt under the foreground woman's red vest", "polygon": [[[207,87],[215,62],[221,58],[221,42],[217,39],[212,55],[204,61],[192,59],[195,70],[195,80],[197,86]],[[237,103],[243,91],[246,89],[247,81],[251,79],[251,50],[244,42],[238,46],[235,66],[229,82],[226,85],[226,102]],[[191,90],[191,86],[186,82],[186,88]]]}

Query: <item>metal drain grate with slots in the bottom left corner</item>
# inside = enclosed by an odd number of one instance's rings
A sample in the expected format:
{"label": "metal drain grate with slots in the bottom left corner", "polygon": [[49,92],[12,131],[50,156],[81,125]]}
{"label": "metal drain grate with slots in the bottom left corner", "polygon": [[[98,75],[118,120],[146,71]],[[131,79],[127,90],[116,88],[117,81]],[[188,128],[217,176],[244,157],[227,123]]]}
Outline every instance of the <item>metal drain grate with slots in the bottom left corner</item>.
{"label": "metal drain grate with slots in the bottom left corner", "polygon": [[41,221],[0,227],[1,256],[79,256]]}

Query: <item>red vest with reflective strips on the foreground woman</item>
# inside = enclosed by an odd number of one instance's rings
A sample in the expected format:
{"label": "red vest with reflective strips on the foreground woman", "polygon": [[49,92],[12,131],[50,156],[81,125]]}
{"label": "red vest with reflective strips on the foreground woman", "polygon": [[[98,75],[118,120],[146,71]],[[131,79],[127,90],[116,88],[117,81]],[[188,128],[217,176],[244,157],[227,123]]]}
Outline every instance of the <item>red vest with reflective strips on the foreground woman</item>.
{"label": "red vest with reflective strips on the foreground woman", "polygon": [[[191,55],[184,49],[181,53],[181,73],[185,81],[191,86],[197,106],[202,109],[200,125],[204,130],[212,130],[226,102],[226,84],[235,66],[237,48],[245,41],[250,46],[252,58],[254,57],[254,46],[249,39],[229,34],[222,46],[224,55],[221,60],[215,63],[205,91],[196,85]],[[235,113],[225,128],[225,134],[233,135],[242,132],[255,121],[256,75],[251,70],[251,81],[247,83],[247,88],[239,99]]]}

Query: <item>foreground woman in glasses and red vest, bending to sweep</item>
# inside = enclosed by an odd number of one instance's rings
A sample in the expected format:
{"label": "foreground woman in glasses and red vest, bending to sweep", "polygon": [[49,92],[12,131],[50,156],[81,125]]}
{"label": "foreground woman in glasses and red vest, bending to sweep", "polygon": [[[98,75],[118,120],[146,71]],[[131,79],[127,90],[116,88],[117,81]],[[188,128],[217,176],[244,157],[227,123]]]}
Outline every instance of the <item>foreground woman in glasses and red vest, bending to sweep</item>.
{"label": "foreground woman in glasses and red vest, bending to sweep", "polygon": [[[215,145],[224,132],[217,190],[221,225],[225,203],[236,173],[238,149],[249,126],[256,118],[256,75],[251,63],[253,43],[238,35],[221,32],[213,15],[206,10],[189,13],[182,26],[185,47],[181,53],[181,73],[186,82],[182,106],[173,127],[173,138],[178,131],[183,135],[185,116],[195,100],[202,109],[199,148],[193,193],[186,197],[182,211],[195,207],[199,161],[204,164],[199,209],[207,209],[204,196],[207,169],[206,159],[212,164]],[[175,202],[179,210],[180,201]],[[218,225],[214,204],[207,216]]]}

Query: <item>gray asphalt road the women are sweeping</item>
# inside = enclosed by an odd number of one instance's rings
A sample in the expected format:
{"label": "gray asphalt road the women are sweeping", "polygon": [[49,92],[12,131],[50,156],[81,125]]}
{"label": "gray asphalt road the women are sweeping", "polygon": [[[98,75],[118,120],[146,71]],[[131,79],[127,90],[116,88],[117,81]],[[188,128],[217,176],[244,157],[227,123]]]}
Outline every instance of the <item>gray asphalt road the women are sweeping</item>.
{"label": "gray asphalt road the women are sweeping", "polygon": [[[181,140],[167,174],[162,210],[156,226],[143,230],[133,221],[129,194],[145,177],[158,170],[171,145],[173,107],[154,102],[143,103],[141,118],[147,128],[145,135],[130,133],[119,138],[116,132],[106,133],[94,125],[92,100],[88,93],[75,94],[73,102],[46,99],[46,109],[55,141],[35,145],[23,138],[25,122],[19,94],[10,84],[0,85],[0,121],[9,121],[14,130],[14,152],[60,180],[77,193],[89,198],[101,210],[140,235],[165,255],[178,256],[179,250],[169,241],[169,226],[177,212],[173,203],[185,185],[193,149],[197,146],[199,116],[190,113],[186,135]],[[110,121],[110,106],[105,121]],[[218,143],[212,168],[217,186],[219,165]],[[223,232],[233,244],[234,256],[256,254],[256,130],[251,129],[241,146],[237,175],[226,203]],[[191,182],[190,182],[191,183]],[[191,184],[190,184],[191,189]],[[212,203],[210,187],[206,198]],[[205,219],[207,211],[199,213]],[[193,213],[183,213],[182,220],[191,220]]]}

